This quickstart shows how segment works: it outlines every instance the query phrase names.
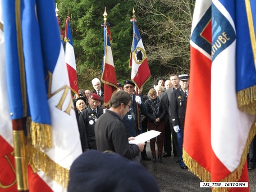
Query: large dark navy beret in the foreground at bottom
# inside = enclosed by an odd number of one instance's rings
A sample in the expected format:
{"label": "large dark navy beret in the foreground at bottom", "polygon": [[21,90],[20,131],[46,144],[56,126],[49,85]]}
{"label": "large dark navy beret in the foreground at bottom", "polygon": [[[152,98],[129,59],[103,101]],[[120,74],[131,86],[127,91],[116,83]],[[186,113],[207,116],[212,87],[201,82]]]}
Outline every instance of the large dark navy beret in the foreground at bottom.
{"label": "large dark navy beret in the foreground at bottom", "polygon": [[67,191],[160,191],[156,179],[140,163],[117,153],[89,150],[72,163]]}

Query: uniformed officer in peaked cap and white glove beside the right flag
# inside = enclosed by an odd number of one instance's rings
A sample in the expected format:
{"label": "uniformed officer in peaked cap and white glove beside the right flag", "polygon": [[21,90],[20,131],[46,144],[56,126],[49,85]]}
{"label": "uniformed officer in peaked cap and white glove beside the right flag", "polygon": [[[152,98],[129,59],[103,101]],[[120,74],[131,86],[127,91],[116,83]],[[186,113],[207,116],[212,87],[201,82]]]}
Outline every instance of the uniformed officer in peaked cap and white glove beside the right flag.
{"label": "uniformed officer in peaked cap and white glove beside the right flag", "polygon": [[189,88],[189,75],[179,75],[180,88],[176,89],[171,94],[171,118],[172,125],[175,132],[177,132],[178,138],[178,162],[182,169],[186,169],[185,163],[182,159],[182,143],[184,134],[184,123],[186,113],[186,103],[188,100],[188,88]]}

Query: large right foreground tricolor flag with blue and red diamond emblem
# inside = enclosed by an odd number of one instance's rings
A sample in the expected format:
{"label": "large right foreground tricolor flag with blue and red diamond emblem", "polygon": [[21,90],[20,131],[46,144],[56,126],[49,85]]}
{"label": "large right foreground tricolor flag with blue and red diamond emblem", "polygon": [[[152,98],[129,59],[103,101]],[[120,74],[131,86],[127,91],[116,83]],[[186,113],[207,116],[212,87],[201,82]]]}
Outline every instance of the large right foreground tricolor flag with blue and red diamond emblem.
{"label": "large right foreground tricolor flag with blue and red diamond emblem", "polygon": [[[249,13],[252,1],[196,1],[184,162],[203,181],[248,181],[246,157],[255,132],[256,72]],[[255,17],[253,17],[255,19]],[[254,20],[255,23],[256,20]],[[255,40],[255,34],[254,40]],[[250,93],[239,96],[239,92]],[[240,100],[254,106],[239,109]],[[214,188],[213,191],[249,191]]]}

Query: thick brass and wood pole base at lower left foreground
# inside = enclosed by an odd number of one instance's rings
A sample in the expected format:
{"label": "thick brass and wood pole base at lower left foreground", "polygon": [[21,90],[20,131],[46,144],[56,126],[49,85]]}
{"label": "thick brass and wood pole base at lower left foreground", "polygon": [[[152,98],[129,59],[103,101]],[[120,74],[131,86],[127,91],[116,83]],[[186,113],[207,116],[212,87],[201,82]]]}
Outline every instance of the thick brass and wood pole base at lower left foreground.
{"label": "thick brass and wood pole base at lower left foreground", "polygon": [[12,120],[13,148],[18,191],[29,191],[28,163],[25,156],[24,123],[24,118]]}

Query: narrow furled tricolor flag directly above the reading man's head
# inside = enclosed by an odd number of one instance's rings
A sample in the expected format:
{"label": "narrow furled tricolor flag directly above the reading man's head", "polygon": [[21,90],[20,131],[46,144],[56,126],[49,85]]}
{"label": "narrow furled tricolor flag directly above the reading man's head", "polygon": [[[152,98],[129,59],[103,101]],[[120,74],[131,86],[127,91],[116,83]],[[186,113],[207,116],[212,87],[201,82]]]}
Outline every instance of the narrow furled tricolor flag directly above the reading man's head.
{"label": "narrow furled tricolor flag directly above the reading man's head", "polygon": [[101,81],[104,83],[104,106],[108,106],[112,94],[117,91],[116,71],[113,61],[111,44],[109,40],[108,25],[103,26],[104,35],[104,54],[102,62]]}

